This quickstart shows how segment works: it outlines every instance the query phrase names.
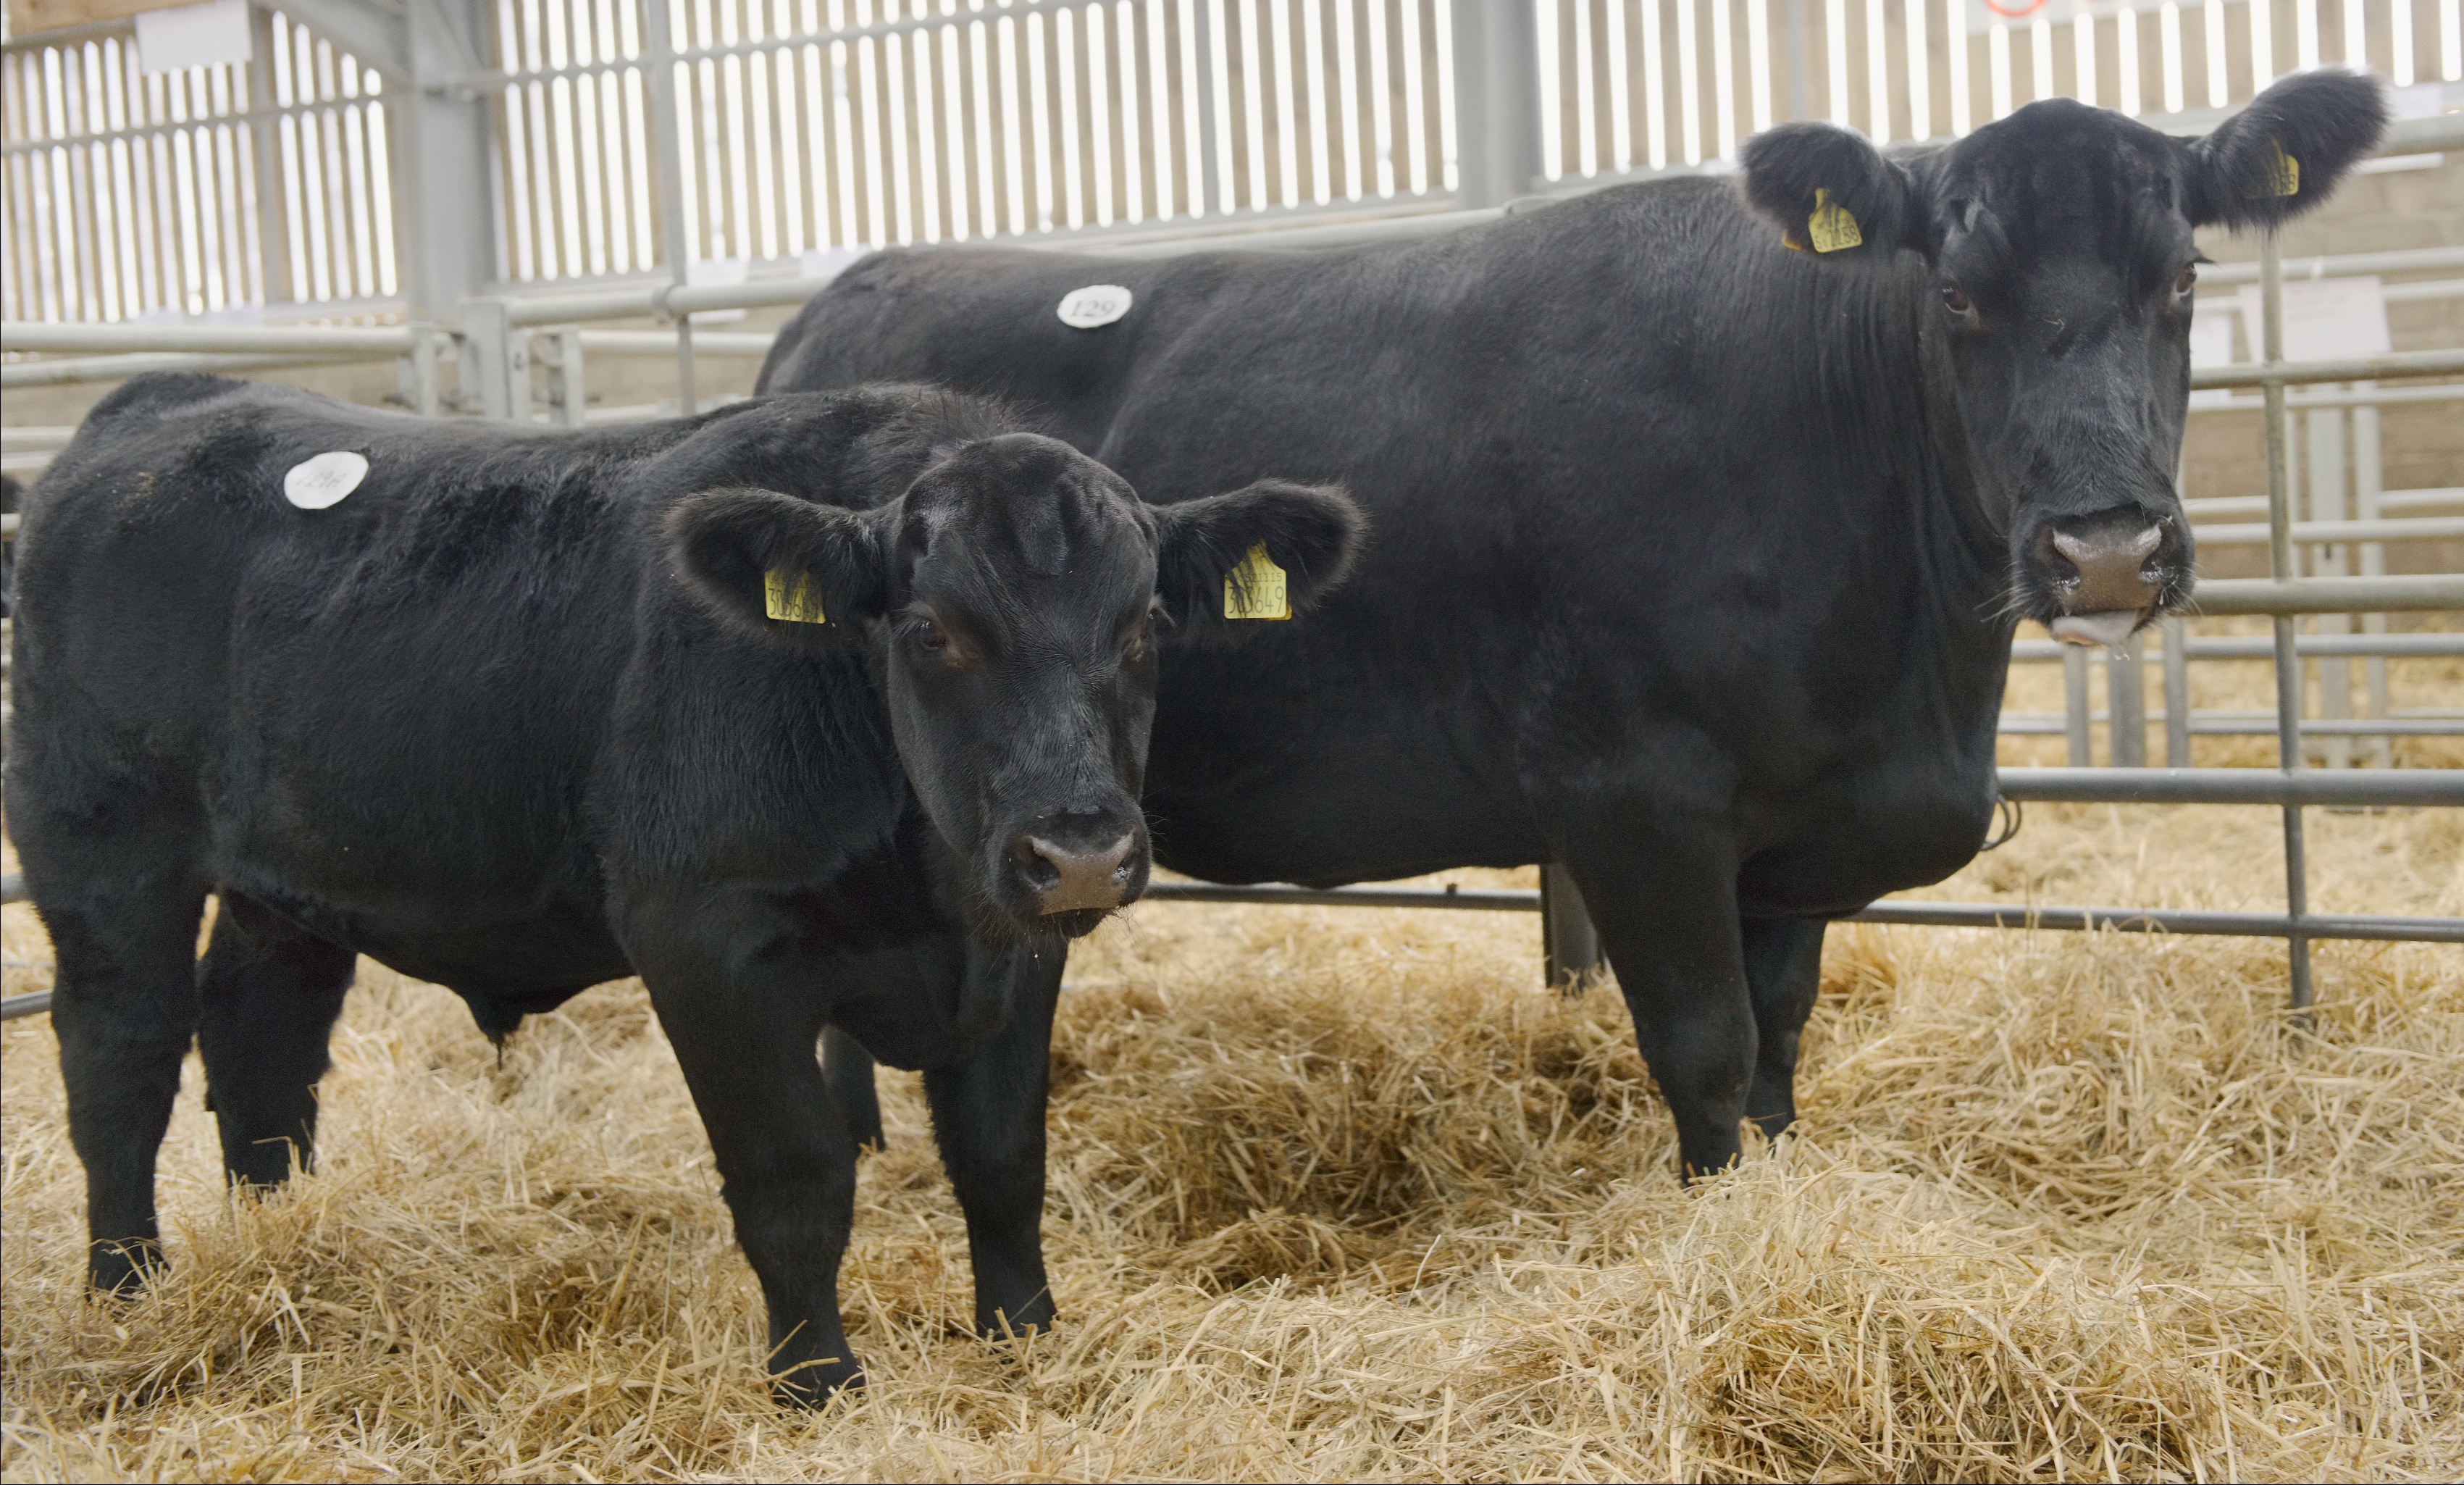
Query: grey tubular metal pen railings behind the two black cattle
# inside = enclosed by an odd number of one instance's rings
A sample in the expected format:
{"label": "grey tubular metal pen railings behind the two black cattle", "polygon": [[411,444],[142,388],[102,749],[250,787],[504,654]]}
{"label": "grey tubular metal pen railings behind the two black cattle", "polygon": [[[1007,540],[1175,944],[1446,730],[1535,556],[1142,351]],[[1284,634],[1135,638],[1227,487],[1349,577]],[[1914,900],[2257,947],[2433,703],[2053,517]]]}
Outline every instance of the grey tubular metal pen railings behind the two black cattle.
{"label": "grey tubular metal pen railings behind the two black cattle", "polygon": [[[2158,121],[2171,126],[2173,121]],[[2213,121],[2200,121],[2205,128]],[[2464,118],[2400,121],[2383,143],[2385,155],[2464,148]],[[1631,177],[1629,177],[1631,180]],[[1599,182],[1607,185],[1607,182]],[[1052,241],[1047,246],[1101,249],[1124,256],[1173,256],[1215,246],[1271,246],[1271,249],[1323,249],[1365,241],[1404,241],[1441,231],[1493,222],[1515,207],[1491,207],[1469,212],[1419,212],[1345,224],[1271,227],[1227,234],[1220,227],[1207,234],[1168,236],[1148,241],[1114,241],[1082,236]],[[2336,264],[2341,271],[2400,271],[2464,266],[2464,249],[2425,249],[2412,254],[2353,254]],[[2319,271],[2328,264],[2321,261]],[[2210,278],[2255,278],[2259,286],[2259,360],[2227,367],[2198,367],[2195,392],[2257,389],[2252,404],[2264,414],[2267,438],[2267,497],[2264,527],[2230,532],[2230,539],[2259,542],[2269,549],[2267,579],[2210,579],[2198,586],[2195,606],[2203,616],[2267,616],[2269,640],[2242,638],[2188,638],[2181,621],[2166,621],[2163,635],[2163,694],[2166,694],[2166,756],[2171,768],[2146,768],[2144,731],[2136,724],[2146,714],[2129,704],[2141,697],[2136,685],[2136,653],[2124,653],[2112,667],[2114,704],[2107,714],[2114,736],[2114,763],[2087,768],[2087,667],[2077,648],[2055,650],[2040,640],[2023,640],[2013,648],[2013,660],[2033,662],[2062,658],[2067,667],[2067,714],[2062,731],[2070,739],[2070,768],[2003,768],[1998,776],[2001,798],[2013,805],[2025,803],[2139,803],[2139,805],[2264,805],[2282,810],[2284,855],[2284,911],[2188,911],[2188,909],[2131,909],[2131,906],[2008,906],[2008,904],[1944,904],[1944,901],[1880,901],[1848,921],[1873,924],[1922,924],[1966,928],[2057,928],[2057,931],[2151,931],[2151,933],[2203,933],[2203,936],[2259,936],[2284,938],[2289,951],[2292,1005],[2311,1005],[2309,946],[2319,938],[2368,938],[2368,941],[2434,941],[2464,943],[2464,919],[2412,919],[2370,914],[2311,914],[2304,850],[2306,808],[2464,808],[2464,768],[2311,768],[2306,761],[2309,739],[2368,739],[2393,734],[2452,734],[2464,731],[2464,719],[2454,717],[2365,717],[2365,719],[2304,719],[2301,687],[2304,658],[2383,662],[2407,655],[2457,655],[2464,653],[2464,635],[2296,635],[2296,616],[2378,616],[2397,611],[2464,611],[2464,574],[2383,576],[2299,576],[2296,542],[2353,542],[2378,544],[2390,539],[2442,539],[2464,534],[2464,522],[2427,517],[2410,520],[2388,510],[2368,512],[2358,522],[2294,522],[2292,478],[2287,458],[2289,387],[2358,384],[2348,394],[2309,396],[2304,406],[2351,406],[2402,401],[2407,396],[2459,399],[2454,387],[2383,387],[2405,377],[2464,377],[2464,350],[2417,350],[2351,360],[2284,360],[2282,345],[2282,281],[2284,261],[2274,236],[2262,239],[2257,264],[2227,264],[2210,268]],[[298,364],[310,360],[367,360],[399,357],[404,362],[407,396],[424,414],[441,411],[439,357],[461,357],[461,382],[473,392],[478,411],[500,419],[532,419],[532,337],[547,342],[542,362],[549,372],[549,411],[559,421],[582,424],[586,419],[584,367],[589,355],[665,355],[678,357],[678,404],[692,406],[692,360],[697,355],[761,355],[769,335],[707,332],[690,320],[700,310],[791,305],[828,283],[828,276],[769,278],[752,283],[655,283],[638,288],[599,288],[589,293],[554,296],[505,296],[468,300],[461,325],[444,328],[429,323],[389,328],[227,328],[227,325],[64,325],[64,323],[10,323],[0,328],[0,350],[10,352],[74,352],[71,362],[15,362],[0,367],[0,384],[37,384],[62,379],[111,379],[140,369],[241,369],[244,364]],[[658,315],[673,320],[658,332],[594,332],[582,330],[589,320],[616,320]],[[12,456],[42,453],[57,438],[12,436]],[[2459,490],[2412,493],[2425,505],[2464,505]],[[2213,527],[2193,527],[2203,539],[2215,539]],[[2230,542],[2227,542],[2230,544]],[[2200,724],[2188,707],[2186,667],[2190,658],[2264,658],[2274,665],[2277,702],[2264,719],[2277,736],[2277,768],[2188,768],[2188,736],[2193,731],[2225,731],[2252,726],[2255,719],[2215,719]],[[2006,731],[2038,731],[2040,719],[2023,719]],[[2131,744],[2129,739],[2136,739]],[[0,884],[0,899],[17,901],[22,887],[15,879]],[[1407,906],[1407,909],[1471,909],[1471,911],[1538,911],[1542,916],[1545,973],[1550,983],[1592,975],[1602,968],[1597,933],[1584,916],[1579,891],[1557,864],[1542,867],[1538,891],[1471,891],[1471,889],[1409,889],[1409,887],[1335,887],[1306,889],[1286,884],[1217,887],[1195,882],[1156,882],[1148,889],[1156,901],[1244,901],[1244,904],[1331,904],[1331,906]],[[0,1020],[47,1010],[49,995],[25,995],[0,1002]]]}

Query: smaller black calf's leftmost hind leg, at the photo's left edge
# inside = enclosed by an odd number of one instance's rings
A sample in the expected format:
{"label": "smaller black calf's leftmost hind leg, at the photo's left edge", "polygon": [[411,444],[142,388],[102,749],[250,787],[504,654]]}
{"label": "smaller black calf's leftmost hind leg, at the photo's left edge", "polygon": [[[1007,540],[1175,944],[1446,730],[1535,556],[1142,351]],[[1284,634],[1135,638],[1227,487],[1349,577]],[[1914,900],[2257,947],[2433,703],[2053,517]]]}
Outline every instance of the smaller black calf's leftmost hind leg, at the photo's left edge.
{"label": "smaller black calf's leftmost hind leg, at the photo's left edge", "polygon": [[[163,852],[113,852],[111,872],[27,862],[34,911],[52,933],[52,1034],[69,1096],[69,1143],[86,1167],[86,1276],[131,1293],[163,1261],[155,1155],[197,1029],[197,919],[205,884]],[[133,869],[131,869],[133,867]]]}

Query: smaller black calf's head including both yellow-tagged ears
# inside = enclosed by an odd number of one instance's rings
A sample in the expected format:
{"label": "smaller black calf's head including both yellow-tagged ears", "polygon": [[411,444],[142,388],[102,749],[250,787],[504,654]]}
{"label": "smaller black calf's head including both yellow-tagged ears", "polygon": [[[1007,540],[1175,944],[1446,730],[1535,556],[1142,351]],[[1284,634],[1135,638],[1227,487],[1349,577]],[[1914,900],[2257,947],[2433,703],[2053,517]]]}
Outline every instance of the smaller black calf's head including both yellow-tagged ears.
{"label": "smaller black calf's head including both yellow-tagged ears", "polygon": [[1225,618],[1249,608],[1249,552],[1284,571],[1289,616],[1343,581],[1363,527],[1343,490],[1276,480],[1146,505],[1035,433],[956,443],[872,510],[712,490],[668,517],[678,566],[739,628],[872,638],[899,763],[993,936],[1079,936],[1146,889],[1158,626],[1264,630]]}

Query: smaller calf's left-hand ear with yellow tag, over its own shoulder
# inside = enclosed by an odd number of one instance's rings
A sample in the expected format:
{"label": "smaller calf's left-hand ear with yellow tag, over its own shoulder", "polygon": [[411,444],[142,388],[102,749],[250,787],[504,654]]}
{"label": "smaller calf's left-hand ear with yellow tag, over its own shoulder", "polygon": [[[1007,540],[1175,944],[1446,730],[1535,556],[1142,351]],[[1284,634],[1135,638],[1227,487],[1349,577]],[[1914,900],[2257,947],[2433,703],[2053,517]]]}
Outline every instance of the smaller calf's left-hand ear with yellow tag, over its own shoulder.
{"label": "smaller calf's left-hand ear with yellow tag, over its own shoulder", "polygon": [[737,628],[774,638],[862,623],[890,601],[882,510],[813,505],[776,490],[705,490],[668,512],[678,574]]}

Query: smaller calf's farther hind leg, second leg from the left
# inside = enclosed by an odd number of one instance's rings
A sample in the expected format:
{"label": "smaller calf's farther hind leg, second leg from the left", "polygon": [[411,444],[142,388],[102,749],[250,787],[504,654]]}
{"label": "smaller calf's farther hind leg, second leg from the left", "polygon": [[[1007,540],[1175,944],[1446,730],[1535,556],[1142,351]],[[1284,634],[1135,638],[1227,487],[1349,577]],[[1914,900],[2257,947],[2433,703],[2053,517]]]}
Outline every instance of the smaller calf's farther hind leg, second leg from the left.
{"label": "smaller calf's farther hind leg, second leg from the left", "polygon": [[224,894],[197,963],[197,1052],[239,1187],[271,1187],[315,1155],[315,1084],[357,958]]}

